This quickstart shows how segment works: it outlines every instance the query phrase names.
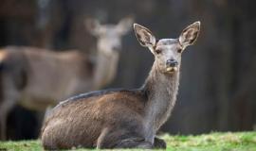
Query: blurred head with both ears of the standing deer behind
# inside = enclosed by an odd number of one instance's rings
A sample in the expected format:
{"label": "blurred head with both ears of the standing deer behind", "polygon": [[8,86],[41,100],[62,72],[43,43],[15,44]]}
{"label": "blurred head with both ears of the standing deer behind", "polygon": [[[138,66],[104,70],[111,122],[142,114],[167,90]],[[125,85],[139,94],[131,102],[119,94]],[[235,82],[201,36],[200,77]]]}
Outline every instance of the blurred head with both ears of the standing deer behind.
{"label": "blurred head with both ears of the standing deer behind", "polygon": [[101,25],[96,19],[85,21],[87,30],[98,38],[98,51],[107,55],[118,53],[121,50],[121,36],[125,35],[133,24],[133,18],[127,17],[117,25]]}

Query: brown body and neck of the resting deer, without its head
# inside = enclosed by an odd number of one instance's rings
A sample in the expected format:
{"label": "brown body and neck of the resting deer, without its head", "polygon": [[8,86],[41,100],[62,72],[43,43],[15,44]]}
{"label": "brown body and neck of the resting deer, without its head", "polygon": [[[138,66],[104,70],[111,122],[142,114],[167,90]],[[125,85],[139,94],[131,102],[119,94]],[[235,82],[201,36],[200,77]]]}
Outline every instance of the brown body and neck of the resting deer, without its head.
{"label": "brown body and neck of the resting deer, without its head", "polygon": [[157,129],[174,107],[178,86],[178,80],[172,79],[178,73],[161,79],[155,74],[152,71],[141,89],[92,92],[64,101],[47,117],[42,136],[45,147],[112,148],[121,138],[131,137],[154,143]]}

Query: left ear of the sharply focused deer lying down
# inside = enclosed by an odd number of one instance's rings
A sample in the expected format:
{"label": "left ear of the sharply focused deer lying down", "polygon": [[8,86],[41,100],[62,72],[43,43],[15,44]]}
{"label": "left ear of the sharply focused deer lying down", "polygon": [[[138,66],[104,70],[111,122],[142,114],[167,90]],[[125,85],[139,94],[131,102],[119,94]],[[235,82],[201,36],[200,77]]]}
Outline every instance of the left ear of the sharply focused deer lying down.
{"label": "left ear of the sharply focused deer lying down", "polygon": [[137,41],[142,46],[147,46],[147,47],[155,46],[155,36],[152,34],[152,32],[148,28],[142,25],[134,24],[134,29],[135,29]]}

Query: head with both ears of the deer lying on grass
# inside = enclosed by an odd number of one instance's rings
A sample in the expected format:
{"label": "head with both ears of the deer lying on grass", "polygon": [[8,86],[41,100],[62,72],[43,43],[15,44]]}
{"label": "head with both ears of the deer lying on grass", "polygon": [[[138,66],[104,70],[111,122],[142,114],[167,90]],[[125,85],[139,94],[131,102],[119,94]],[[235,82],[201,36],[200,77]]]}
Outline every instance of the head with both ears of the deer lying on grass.
{"label": "head with both ears of the deer lying on grass", "polygon": [[156,41],[153,33],[142,25],[134,24],[138,42],[148,47],[155,56],[157,70],[164,74],[174,74],[179,70],[181,54],[192,45],[200,31],[200,22],[187,26],[177,39],[161,39]]}

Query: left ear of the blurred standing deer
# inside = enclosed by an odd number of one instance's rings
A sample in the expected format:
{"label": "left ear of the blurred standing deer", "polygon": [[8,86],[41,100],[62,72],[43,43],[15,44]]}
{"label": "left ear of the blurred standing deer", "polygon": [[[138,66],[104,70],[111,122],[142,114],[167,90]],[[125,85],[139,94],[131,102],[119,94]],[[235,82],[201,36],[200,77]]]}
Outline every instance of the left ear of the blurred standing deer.
{"label": "left ear of the blurred standing deer", "polygon": [[89,31],[90,34],[94,35],[94,36],[98,36],[99,35],[99,30],[100,30],[100,22],[96,19],[86,19],[84,21],[84,25],[86,27],[86,29]]}

